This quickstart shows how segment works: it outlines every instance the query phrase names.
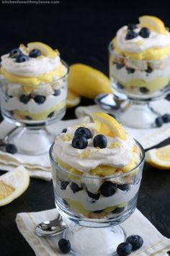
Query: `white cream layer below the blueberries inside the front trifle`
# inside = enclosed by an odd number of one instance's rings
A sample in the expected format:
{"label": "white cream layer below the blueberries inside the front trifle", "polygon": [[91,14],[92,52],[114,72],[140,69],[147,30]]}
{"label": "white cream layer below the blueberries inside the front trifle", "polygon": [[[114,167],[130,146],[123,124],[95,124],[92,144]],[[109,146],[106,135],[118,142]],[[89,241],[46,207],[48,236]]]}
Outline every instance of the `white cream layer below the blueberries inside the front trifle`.
{"label": "white cream layer below the blueberries inside the front trifle", "polygon": [[114,195],[111,197],[104,197],[100,195],[99,199],[95,202],[91,202],[87,192],[82,189],[79,192],[73,193],[71,190],[70,185],[66,188],[66,190],[62,190],[60,186],[55,187],[55,192],[57,193],[58,197],[63,199],[71,199],[80,202],[86,210],[94,211],[94,210],[102,210],[104,208],[119,205],[123,202],[129,202],[130,200],[135,197],[138,189],[140,187],[140,182],[135,185],[130,185],[130,190],[122,191],[121,189],[117,189]]}

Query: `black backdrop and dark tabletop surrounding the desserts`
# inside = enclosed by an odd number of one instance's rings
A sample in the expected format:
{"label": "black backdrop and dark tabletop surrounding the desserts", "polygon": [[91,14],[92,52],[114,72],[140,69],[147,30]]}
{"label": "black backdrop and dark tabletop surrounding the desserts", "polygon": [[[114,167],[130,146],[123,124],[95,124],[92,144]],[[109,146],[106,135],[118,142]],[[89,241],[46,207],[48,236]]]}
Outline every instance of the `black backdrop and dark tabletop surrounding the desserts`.
{"label": "black backdrop and dark tabletop surrounding the desserts", "polygon": [[[152,14],[170,27],[167,1],[81,1],[61,0],[60,4],[0,4],[0,55],[19,43],[42,41],[58,48],[61,58],[81,62],[108,74],[107,45],[117,29],[137,23],[143,14]],[[92,103],[83,99],[81,104]],[[65,119],[73,118],[73,109]],[[169,140],[161,143],[166,145]],[[145,165],[138,208],[164,236],[170,238],[170,173]],[[34,255],[19,234],[16,214],[54,208],[52,182],[32,179],[24,195],[0,208],[0,255]],[[92,255],[91,255],[92,256]]]}

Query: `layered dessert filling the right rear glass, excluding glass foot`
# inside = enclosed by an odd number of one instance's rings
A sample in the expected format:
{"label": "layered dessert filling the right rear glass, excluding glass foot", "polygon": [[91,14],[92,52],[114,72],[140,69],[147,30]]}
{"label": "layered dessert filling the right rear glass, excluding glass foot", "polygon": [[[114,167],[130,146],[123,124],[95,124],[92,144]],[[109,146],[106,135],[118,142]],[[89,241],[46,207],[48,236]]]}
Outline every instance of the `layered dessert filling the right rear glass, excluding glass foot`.
{"label": "layered dessert filling the right rear glass, excluding glass foot", "polygon": [[144,96],[169,86],[170,33],[157,17],[143,16],[139,24],[121,27],[109,54],[113,88]]}

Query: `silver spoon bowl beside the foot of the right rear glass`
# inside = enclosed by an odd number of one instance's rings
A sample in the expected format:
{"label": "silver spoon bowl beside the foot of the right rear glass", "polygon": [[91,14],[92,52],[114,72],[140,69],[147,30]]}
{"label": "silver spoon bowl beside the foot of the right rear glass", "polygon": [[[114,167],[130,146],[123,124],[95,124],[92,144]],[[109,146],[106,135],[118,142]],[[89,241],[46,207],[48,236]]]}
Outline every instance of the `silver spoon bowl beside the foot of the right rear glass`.
{"label": "silver spoon bowl beside the foot of the right rear glass", "polygon": [[113,95],[112,93],[101,93],[95,98],[95,102],[104,109],[120,108],[122,101],[125,101],[127,96],[122,93]]}

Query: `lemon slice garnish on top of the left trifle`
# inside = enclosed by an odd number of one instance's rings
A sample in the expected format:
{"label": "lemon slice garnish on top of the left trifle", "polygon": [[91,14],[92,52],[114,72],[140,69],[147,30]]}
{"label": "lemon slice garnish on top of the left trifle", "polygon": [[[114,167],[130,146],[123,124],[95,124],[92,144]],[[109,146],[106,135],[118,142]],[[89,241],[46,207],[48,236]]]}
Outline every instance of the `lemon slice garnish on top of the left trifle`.
{"label": "lemon slice garnish on top of the left trifle", "polygon": [[45,43],[41,43],[41,42],[27,43],[27,47],[29,51],[32,51],[33,49],[38,49],[41,51],[41,53],[44,56],[48,56],[49,58],[55,58],[56,56],[56,52],[53,51],[53,49]]}

